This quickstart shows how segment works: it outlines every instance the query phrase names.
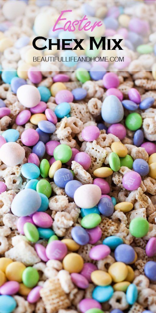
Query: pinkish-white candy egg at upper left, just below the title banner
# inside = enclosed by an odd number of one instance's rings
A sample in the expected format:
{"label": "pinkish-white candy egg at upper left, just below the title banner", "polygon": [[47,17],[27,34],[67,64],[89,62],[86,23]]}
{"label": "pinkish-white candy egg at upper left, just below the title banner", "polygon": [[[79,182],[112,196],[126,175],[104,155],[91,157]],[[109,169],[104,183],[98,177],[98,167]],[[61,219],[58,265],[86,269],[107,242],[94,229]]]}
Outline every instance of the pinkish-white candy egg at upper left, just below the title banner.
{"label": "pinkish-white candy egg at upper left, just below the title banner", "polygon": [[26,108],[33,108],[39,104],[41,95],[35,86],[23,85],[17,90],[17,98]]}

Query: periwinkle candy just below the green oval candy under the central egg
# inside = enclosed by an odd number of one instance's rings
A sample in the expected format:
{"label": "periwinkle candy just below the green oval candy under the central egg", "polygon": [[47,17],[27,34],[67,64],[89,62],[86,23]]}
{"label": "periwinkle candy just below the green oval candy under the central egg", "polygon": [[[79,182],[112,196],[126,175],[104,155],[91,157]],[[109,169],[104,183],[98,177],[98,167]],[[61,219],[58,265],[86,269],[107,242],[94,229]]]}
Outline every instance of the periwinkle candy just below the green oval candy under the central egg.
{"label": "periwinkle candy just below the green oval candy under the central egg", "polygon": [[77,244],[80,244],[82,246],[84,244],[88,244],[90,240],[87,231],[80,226],[75,226],[72,228],[71,237]]}

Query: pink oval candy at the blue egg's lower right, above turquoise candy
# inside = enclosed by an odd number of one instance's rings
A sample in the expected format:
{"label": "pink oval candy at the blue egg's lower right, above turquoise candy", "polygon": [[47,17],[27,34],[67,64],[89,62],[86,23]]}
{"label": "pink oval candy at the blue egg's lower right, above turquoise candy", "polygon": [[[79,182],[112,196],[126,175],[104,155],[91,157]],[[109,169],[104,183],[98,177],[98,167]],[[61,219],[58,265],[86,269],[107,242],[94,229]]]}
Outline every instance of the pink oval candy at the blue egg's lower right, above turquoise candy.
{"label": "pink oval candy at the blue egg's lower right, above turquoise candy", "polygon": [[36,212],[32,216],[35,225],[42,228],[50,228],[53,220],[51,216],[45,212]]}

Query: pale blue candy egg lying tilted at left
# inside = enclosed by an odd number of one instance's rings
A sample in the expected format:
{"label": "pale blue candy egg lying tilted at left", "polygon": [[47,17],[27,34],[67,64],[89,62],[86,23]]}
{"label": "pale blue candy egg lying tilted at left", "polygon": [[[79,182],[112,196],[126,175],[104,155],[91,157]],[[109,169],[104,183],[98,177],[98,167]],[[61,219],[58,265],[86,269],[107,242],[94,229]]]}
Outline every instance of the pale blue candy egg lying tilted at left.
{"label": "pale blue candy egg lying tilted at left", "polygon": [[11,210],[16,216],[28,216],[35,213],[40,206],[40,195],[33,189],[23,189],[13,199]]}

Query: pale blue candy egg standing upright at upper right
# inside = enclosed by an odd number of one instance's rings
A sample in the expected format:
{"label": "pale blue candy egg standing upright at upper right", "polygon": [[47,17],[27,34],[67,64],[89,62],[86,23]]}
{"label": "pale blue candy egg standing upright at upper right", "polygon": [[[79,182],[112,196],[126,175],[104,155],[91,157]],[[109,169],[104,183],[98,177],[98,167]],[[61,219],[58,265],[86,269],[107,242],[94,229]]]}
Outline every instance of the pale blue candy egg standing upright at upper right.
{"label": "pale blue candy egg standing upright at upper right", "polygon": [[114,95],[107,96],[102,104],[101,115],[106,123],[119,123],[124,117],[121,101]]}

